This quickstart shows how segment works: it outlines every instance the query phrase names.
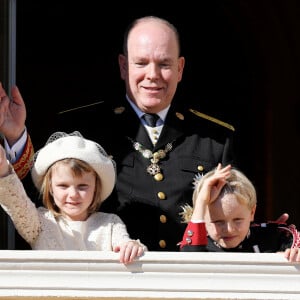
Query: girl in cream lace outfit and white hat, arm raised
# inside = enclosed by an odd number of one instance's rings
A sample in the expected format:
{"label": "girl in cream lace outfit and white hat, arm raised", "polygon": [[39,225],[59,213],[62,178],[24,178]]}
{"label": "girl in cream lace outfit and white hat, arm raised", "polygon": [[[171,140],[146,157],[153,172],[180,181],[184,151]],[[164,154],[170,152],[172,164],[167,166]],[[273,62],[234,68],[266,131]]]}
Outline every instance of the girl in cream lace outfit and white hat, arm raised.
{"label": "girl in cream lace outfit and white hat, arm raised", "polygon": [[98,250],[120,253],[130,263],[146,247],[130,239],[115,214],[98,212],[111,194],[115,162],[79,132],[57,132],[36,152],[31,171],[44,207],[36,208],[0,148],[0,204],[35,250]]}

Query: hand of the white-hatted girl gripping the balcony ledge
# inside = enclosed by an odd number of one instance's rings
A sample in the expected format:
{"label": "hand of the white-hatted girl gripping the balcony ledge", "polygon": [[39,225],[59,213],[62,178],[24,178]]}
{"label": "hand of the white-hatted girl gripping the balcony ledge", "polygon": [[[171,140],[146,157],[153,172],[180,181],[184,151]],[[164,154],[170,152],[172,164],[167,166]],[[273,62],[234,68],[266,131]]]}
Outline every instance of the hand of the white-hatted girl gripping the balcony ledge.
{"label": "hand of the white-hatted girl gripping the balcony ledge", "polygon": [[120,252],[120,262],[128,264],[136,257],[142,256],[147,248],[139,240],[131,240],[121,246],[114,247],[114,252]]}

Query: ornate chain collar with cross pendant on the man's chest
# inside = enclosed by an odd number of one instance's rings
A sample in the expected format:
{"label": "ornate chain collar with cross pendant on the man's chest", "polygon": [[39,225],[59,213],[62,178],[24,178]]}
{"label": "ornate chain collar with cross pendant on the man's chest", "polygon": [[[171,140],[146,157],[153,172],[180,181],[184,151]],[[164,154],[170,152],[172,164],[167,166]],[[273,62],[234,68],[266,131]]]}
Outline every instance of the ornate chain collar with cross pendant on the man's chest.
{"label": "ornate chain collar with cross pendant on the man's chest", "polygon": [[146,149],[141,143],[136,142],[131,138],[129,138],[129,140],[132,142],[133,148],[136,151],[140,152],[143,157],[150,159],[151,164],[147,167],[147,173],[152,176],[161,173],[158,163],[173,149],[172,143],[168,143],[164,149],[159,149],[153,153],[150,149]]}

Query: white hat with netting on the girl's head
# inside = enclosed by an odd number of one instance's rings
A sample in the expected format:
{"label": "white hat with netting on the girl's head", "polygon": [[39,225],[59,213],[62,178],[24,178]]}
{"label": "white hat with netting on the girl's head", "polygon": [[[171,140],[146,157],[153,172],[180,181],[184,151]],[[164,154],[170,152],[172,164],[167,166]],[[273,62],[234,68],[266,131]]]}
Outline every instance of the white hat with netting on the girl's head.
{"label": "white hat with netting on the girl's head", "polygon": [[99,144],[83,138],[78,131],[53,133],[46,145],[35,153],[31,176],[39,190],[48,168],[65,158],[80,159],[96,171],[101,180],[101,201],[111,194],[116,181],[115,162]]}

